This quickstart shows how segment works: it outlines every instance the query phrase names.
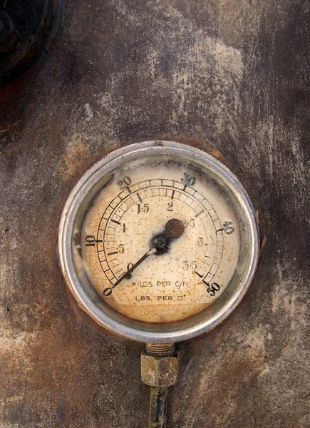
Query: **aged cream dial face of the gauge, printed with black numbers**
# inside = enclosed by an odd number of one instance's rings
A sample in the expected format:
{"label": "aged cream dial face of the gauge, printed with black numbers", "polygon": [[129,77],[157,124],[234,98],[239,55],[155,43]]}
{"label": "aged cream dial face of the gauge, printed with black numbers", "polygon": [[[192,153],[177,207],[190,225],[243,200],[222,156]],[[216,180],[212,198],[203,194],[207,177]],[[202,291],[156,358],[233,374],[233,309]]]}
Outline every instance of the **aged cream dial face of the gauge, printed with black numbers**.
{"label": "aged cream dial face of the gauge, printed with black numbers", "polygon": [[224,292],[239,259],[239,225],[208,175],[145,158],[126,163],[93,200],[81,254],[93,287],[115,310],[143,322],[178,321]]}

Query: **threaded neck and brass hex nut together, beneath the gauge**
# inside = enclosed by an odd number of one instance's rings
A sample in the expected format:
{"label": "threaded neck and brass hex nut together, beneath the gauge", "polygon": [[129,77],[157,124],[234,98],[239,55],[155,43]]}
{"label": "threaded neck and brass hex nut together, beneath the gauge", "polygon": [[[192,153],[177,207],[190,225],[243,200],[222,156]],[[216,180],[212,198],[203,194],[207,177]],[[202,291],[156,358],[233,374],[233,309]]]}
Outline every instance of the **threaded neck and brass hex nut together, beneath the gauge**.
{"label": "threaded neck and brass hex nut together, beneath the gauge", "polygon": [[179,379],[174,343],[148,343],[141,354],[141,379],[150,387],[171,387]]}

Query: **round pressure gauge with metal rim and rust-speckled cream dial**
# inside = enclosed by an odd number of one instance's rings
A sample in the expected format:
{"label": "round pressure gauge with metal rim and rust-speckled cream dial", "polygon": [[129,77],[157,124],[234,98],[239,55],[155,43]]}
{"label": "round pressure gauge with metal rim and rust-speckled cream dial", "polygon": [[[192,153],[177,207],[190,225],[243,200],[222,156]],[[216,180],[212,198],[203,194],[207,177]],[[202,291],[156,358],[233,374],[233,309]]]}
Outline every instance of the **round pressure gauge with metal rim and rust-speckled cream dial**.
{"label": "round pressure gauge with metal rim and rust-speckled cream dial", "polygon": [[252,204],[207,153],[170,141],[120,148],[71,192],[61,268],[83,310],[128,339],[178,342],[239,304],[257,267]]}

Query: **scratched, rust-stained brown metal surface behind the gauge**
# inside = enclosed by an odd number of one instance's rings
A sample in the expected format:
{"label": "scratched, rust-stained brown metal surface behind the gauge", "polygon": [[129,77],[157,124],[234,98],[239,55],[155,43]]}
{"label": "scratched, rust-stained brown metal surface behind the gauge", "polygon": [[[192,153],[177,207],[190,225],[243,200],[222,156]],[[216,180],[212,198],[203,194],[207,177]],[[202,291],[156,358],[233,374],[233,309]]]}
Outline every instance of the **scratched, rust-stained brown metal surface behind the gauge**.
{"label": "scratched, rust-stained brown metal surface behind the gauge", "polygon": [[180,344],[169,427],[309,427],[309,9],[68,0],[48,54],[0,88],[1,428],[146,426],[143,345],[78,309],[56,234],[88,166],[157,138],[224,161],[268,238],[242,304]]}

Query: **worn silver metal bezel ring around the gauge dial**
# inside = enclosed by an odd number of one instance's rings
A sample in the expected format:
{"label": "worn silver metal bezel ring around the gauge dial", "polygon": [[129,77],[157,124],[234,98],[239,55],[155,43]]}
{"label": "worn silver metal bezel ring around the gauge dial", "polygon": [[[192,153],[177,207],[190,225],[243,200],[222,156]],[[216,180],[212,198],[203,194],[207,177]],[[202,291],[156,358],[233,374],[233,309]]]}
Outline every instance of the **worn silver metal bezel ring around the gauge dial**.
{"label": "worn silver metal bezel ring around the gauge dial", "polygon": [[[148,325],[129,320],[120,315],[100,297],[92,297],[81,284],[73,260],[73,231],[81,207],[89,204],[95,185],[103,176],[120,168],[127,161],[142,157],[170,156],[197,165],[219,180],[229,190],[234,203],[239,206],[247,233],[247,248],[244,254],[244,270],[238,282],[229,283],[227,289],[200,314],[187,320],[167,325]],[[95,189],[95,190],[94,190]],[[81,177],[66,201],[58,231],[58,250],[61,270],[78,305],[99,325],[131,340],[139,342],[179,342],[208,332],[222,322],[241,302],[254,277],[259,258],[259,231],[254,209],[243,186],[232,172],[216,158],[200,149],[172,141],[145,141],[113,151],[89,168]],[[234,274],[235,275],[235,274]],[[236,274],[237,275],[237,274]],[[236,279],[237,281],[237,279]],[[101,302],[100,302],[101,300]]]}

